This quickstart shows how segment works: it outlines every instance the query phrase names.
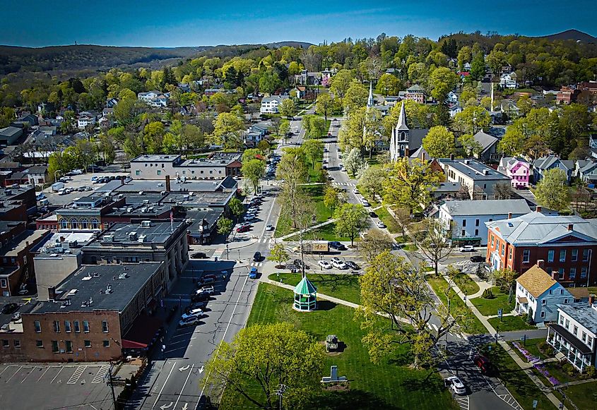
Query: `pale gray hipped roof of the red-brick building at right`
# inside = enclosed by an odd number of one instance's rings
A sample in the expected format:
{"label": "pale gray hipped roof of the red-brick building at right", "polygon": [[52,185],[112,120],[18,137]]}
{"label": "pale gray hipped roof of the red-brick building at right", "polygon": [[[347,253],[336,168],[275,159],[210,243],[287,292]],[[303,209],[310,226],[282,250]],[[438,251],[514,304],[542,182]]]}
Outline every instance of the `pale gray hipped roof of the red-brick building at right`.
{"label": "pale gray hipped roof of the red-brick building at right", "polygon": [[541,212],[529,212],[512,219],[485,222],[485,225],[513,244],[548,243],[566,236],[597,241],[597,219],[573,215],[546,216]]}

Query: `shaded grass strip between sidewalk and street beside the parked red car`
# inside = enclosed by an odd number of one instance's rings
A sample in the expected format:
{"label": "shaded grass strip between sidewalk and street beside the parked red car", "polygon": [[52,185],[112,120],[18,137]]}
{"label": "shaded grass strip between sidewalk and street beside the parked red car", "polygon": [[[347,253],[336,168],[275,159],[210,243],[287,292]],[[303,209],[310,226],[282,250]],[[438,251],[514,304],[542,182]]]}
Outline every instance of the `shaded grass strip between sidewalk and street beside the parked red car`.
{"label": "shaded grass strip between sidewalk and street beside the parked red car", "polygon": [[[537,409],[555,409],[552,402],[549,401],[545,394],[528,378],[526,373],[519,368],[519,366],[512,360],[502,346],[499,344],[490,344],[491,351],[484,349],[483,354],[490,359],[490,361],[499,370],[499,377],[508,388],[510,393],[514,396],[517,402],[524,409],[533,408],[533,400],[538,401]],[[590,407],[586,407],[589,409]]]}

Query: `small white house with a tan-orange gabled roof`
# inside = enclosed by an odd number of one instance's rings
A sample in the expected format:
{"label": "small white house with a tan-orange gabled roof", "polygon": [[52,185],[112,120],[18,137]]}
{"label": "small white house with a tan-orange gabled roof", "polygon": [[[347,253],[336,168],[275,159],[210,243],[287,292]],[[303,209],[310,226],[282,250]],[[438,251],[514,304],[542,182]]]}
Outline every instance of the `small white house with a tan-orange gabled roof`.
{"label": "small white house with a tan-orange gabled roof", "polygon": [[[574,296],[541,267],[543,260],[516,279],[516,306],[519,315],[529,314],[535,323],[557,320],[557,305],[574,302]],[[557,277],[558,272],[553,273]]]}

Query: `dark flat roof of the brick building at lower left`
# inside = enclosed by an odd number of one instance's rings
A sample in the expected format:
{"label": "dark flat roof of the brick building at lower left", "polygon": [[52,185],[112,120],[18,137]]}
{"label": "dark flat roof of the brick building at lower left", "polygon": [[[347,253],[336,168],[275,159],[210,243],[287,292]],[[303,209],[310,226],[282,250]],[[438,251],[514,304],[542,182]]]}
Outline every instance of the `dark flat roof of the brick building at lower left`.
{"label": "dark flat roof of the brick building at lower left", "polygon": [[155,275],[161,264],[142,262],[119,265],[84,265],[56,287],[57,299],[55,301],[37,302],[30,313],[93,310],[122,312],[138,291]]}

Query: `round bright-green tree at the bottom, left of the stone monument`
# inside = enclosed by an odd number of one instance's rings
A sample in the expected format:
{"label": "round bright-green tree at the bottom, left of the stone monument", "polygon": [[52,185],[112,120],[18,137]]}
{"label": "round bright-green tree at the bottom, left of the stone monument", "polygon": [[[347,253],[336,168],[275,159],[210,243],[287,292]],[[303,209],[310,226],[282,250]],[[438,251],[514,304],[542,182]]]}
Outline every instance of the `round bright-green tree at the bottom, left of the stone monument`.
{"label": "round bright-green tree at the bottom, left of the stone monument", "polygon": [[220,342],[206,363],[205,385],[213,386],[215,396],[224,388],[240,394],[258,409],[277,406],[276,391],[283,395],[285,409],[303,409],[315,392],[324,371],[323,345],[290,323],[270,323],[246,327],[232,343]]}

